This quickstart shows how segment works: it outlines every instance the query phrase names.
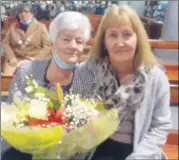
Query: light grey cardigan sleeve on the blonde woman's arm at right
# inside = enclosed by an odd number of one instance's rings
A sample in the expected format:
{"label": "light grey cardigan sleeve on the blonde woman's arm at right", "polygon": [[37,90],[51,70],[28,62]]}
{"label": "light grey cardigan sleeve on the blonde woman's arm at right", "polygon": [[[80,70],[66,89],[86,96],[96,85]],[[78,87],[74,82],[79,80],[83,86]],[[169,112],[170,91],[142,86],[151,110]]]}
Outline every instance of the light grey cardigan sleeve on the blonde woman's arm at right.
{"label": "light grey cardigan sleeve on the blonde woman's arm at right", "polygon": [[[162,74],[164,75],[164,74]],[[170,87],[167,77],[160,76],[158,92],[152,114],[150,128],[143,140],[135,148],[135,152],[127,157],[129,159],[160,159],[162,145],[165,144],[171,129]]]}

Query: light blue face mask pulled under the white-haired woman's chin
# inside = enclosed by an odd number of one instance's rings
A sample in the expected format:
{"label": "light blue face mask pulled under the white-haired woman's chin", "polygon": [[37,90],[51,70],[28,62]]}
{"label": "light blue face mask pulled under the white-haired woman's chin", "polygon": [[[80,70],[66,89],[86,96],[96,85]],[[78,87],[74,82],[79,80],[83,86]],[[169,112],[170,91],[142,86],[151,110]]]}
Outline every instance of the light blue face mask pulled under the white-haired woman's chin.
{"label": "light blue face mask pulled under the white-haired woman's chin", "polygon": [[55,53],[53,54],[53,59],[55,61],[55,63],[62,69],[68,69],[68,70],[73,70],[74,68],[76,68],[76,66],[78,65],[78,63],[74,63],[74,64],[67,64],[65,62],[63,62]]}

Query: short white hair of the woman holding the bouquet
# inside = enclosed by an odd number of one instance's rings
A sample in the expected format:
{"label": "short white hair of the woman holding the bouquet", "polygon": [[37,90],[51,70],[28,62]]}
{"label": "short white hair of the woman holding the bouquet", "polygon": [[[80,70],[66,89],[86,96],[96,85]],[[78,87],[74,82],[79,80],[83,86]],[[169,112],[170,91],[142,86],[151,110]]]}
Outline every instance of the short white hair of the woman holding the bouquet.
{"label": "short white hair of the woman holding the bouquet", "polygon": [[49,38],[56,41],[61,31],[65,29],[81,29],[84,32],[84,41],[90,38],[91,25],[87,16],[79,12],[66,11],[60,13],[50,24]]}

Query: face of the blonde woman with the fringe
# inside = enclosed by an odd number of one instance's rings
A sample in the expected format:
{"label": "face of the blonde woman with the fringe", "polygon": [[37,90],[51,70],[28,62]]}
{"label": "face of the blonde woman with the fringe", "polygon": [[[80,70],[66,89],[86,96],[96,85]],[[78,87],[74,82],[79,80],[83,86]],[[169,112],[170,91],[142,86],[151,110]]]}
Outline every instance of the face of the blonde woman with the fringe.
{"label": "face of the blonde woman with the fringe", "polygon": [[137,36],[131,26],[111,27],[105,33],[105,47],[111,62],[131,62],[134,59]]}

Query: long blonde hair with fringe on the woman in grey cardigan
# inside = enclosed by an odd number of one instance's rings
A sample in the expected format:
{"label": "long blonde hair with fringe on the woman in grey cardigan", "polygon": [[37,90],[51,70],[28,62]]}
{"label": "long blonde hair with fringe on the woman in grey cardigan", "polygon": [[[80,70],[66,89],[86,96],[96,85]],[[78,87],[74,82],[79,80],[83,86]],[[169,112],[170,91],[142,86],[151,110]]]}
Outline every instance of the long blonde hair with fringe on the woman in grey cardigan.
{"label": "long blonde hair with fringe on the woman in grey cardigan", "polygon": [[97,59],[103,59],[106,56],[104,37],[106,30],[110,27],[130,25],[137,35],[137,47],[134,57],[134,68],[138,70],[141,64],[146,64],[150,68],[157,64],[157,61],[152,53],[148,36],[140,20],[138,14],[129,6],[115,6],[112,7],[103,16],[98,27],[93,46],[89,53]]}

